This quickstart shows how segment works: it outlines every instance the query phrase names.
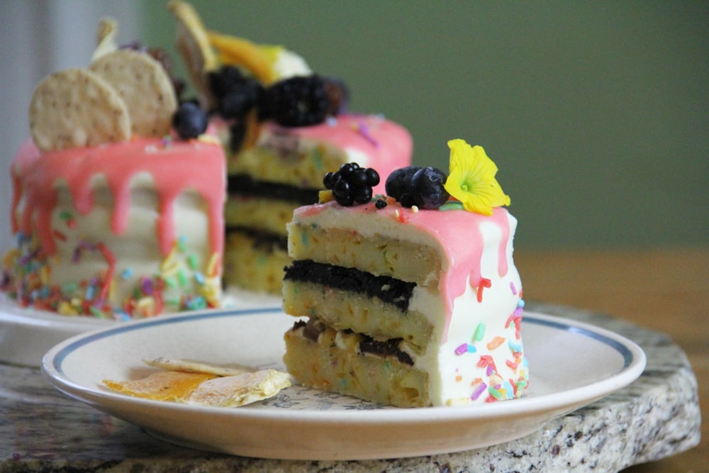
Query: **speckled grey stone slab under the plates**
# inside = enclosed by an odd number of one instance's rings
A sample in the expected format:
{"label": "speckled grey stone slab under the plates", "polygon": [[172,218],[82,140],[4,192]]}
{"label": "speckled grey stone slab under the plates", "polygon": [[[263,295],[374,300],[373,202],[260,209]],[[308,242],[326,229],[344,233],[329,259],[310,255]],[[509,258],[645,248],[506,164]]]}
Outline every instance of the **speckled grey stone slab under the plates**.
{"label": "speckled grey stone slab under the plates", "polygon": [[576,309],[540,304],[528,308],[634,340],[647,355],[645,372],[627,388],[509,443],[405,459],[306,462],[176,447],[63,396],[38,369],[0,365],[0,473],[614,472],[698,445],[696,378],[686,355],[669,337]]}

